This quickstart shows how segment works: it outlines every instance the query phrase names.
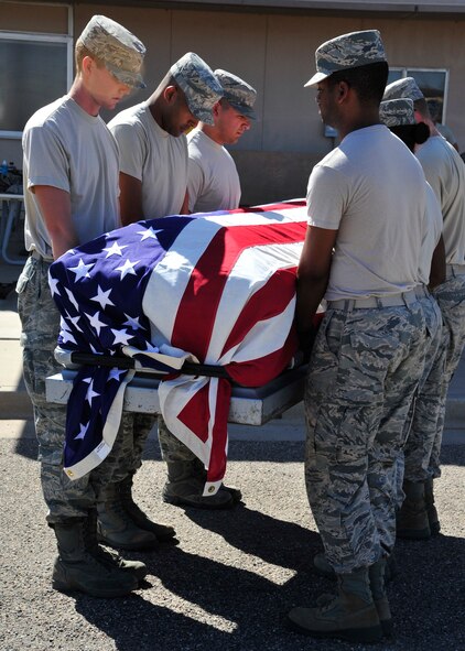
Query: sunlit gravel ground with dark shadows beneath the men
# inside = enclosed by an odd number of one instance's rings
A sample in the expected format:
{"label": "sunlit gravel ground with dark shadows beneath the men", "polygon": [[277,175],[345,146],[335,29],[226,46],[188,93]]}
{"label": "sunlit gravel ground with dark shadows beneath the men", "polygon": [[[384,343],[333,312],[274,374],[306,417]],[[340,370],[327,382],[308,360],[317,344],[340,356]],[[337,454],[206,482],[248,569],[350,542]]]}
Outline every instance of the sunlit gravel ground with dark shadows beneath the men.
{"label": "sunlit gravel ground with dark shadows beneath the men", "polygon": [[[333,651],[365,649],[285,630],[286,611],[312,605],[332,582],[318,577],[321,550],[303,484],[303,444],[230,443],[227,481],[242,489],[233,511],[164,504],[164,467],[150,442],[138,501],[172,523],[179,546],[132,554],[145,586],[122,599],[63,595],[50,586],[55,556],[44,523],[34,441],[0,441],[2,651]],[[382,651],[465,651],[465,445],[444,448],[436,484],[442,535],[400,542],[390,586],[396,639]]]}

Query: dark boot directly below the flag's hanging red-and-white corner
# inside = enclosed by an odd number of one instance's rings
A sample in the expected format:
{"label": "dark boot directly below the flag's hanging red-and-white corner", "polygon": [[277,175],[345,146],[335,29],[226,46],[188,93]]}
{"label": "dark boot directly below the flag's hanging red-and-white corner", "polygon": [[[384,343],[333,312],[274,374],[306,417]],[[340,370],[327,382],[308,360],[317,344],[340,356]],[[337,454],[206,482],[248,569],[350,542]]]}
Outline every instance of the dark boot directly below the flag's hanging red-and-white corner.
{"label": "dark boot directly below the flag's hanging red-and-white corner", "polygon": [[191,462],[166,462],[167,481],[163,500],[170,504],[195,509],[230,509],[235,501],[230,492],[220,488],[215,495],[204,497],[204,480],[193,475]]}

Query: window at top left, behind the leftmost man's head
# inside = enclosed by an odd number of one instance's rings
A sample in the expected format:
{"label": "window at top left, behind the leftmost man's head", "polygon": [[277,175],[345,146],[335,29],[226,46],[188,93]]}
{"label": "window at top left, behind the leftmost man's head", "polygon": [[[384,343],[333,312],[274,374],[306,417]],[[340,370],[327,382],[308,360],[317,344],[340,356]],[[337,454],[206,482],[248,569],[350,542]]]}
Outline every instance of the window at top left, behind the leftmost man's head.
{"label": "window at top left, behind the leftmost man's head", "polygon": [[0,138],[21,138],[34,111],[65,95],[72,74],[71,36],[0,32]]}

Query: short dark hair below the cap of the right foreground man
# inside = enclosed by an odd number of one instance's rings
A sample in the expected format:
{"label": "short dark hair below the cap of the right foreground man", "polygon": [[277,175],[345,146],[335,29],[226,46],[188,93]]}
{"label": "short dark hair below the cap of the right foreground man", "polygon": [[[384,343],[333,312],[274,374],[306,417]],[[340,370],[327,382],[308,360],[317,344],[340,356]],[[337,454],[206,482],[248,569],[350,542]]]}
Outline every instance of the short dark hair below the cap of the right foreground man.
{"label": "short dark hair below the cap of the right foreground man", "polygon": [[356,68],[337,70],[328,77],[331,85],[346,82],[354,88],[361,101],[380,105],[388,80],[389,66],[386,61],[370,63]]}

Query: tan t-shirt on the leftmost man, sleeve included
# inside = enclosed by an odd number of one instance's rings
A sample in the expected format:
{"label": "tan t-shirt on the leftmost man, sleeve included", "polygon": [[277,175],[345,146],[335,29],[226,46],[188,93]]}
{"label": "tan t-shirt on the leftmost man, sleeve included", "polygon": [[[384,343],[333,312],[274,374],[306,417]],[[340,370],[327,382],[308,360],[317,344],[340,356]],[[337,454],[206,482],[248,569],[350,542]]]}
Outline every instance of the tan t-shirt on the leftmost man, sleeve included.
{"label": "tan t-shirt on the leftmost man, sleeve included", "polygon": [[118,145],[100,117],[65,95],[30,118],[22,142],[28,251],[53,259],[34,185],[69,193],[79,243],[119,226]]}

